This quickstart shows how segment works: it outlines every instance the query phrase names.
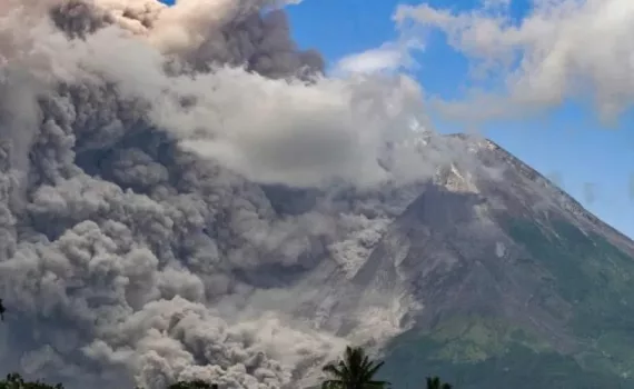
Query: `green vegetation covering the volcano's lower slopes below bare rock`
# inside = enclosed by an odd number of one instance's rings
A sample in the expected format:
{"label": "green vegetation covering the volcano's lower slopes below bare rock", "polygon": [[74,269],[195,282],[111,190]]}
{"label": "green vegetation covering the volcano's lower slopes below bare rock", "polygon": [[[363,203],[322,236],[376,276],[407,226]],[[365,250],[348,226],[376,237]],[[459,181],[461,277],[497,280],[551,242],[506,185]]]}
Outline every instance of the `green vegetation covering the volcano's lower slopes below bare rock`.
{"label": "green vegetation covering the volcano's lower slopes below bare rock", "polygon": [[[568,222],[507,219],[502,225],[524,248],[523,263],[543,275],[534,298],[562,320],[575,348],[562,353],[529,329],[497,317],[455,316],[395,338],[380,377],[399,388],[420,382],[426,371],[460,389],[634,388],[634,259]],[[557,299],[568,311],[551,305]]]}

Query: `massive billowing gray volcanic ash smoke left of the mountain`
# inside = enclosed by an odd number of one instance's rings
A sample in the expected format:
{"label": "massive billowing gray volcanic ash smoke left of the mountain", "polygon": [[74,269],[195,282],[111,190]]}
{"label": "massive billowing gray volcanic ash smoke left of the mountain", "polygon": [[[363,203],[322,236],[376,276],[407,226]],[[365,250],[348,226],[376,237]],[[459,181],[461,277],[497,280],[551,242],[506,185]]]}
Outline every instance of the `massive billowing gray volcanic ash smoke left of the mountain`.
{"label": "massive billowing gray volcanic ash smoke left of the mountain", "polygon": [[280,388],[345,345],[301,313],[306,275],[345,282],[406,202],[388,181],[445,157],[398,146],[425,122],[414,81],[324,77],[273,6],[0,4],[3,371]]}

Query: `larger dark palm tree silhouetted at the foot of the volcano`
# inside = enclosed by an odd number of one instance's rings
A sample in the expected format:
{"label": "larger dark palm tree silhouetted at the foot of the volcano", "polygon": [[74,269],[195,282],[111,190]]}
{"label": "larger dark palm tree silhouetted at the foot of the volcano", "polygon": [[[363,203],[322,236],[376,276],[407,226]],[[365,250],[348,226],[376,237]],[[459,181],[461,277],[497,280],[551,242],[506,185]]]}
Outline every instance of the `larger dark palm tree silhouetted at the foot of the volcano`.
{"label": "larger dark palm tree silhouetted at the foot of the volcano", "polygon": [[389,382],[374,379],[383,363],[370,360],[363,348],[348,346],[343,359],[324,367],[330,379],[321,383],[321,389],[384,389]]}

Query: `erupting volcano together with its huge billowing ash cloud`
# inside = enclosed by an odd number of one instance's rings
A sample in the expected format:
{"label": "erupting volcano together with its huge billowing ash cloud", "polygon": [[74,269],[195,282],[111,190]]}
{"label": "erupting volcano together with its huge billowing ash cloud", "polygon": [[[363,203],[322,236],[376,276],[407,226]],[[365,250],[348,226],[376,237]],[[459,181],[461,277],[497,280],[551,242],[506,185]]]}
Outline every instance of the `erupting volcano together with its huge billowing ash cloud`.
{"label": "erupting volcano together with its huge billowing ash cloud", "polygon": [[356,343],[395,388],[634,387],[634,243],[412,77],[328,77],[268,0],[6,3],[3,371],[289,389]]}

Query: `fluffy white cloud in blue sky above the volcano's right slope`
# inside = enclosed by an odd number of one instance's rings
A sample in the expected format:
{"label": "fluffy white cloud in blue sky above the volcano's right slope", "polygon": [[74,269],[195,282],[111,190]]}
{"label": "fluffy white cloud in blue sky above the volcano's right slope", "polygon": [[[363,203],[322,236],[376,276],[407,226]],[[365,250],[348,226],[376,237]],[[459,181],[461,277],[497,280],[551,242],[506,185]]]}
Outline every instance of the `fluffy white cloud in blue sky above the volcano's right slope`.
{"label": "fluffy white cloud in blue sky above the volcano's right slope", "polygon": [[397,9],[397,21],[445,32],[454,49],[502,82],[495,93],[472,90],[466,101],[440,102],[446,113],[519,116],[587,97],[603,119],[615,119],[632,104],[633,1],[535,0],[518,23],[508,12],[486,7],[452,12],[428,4]]}

